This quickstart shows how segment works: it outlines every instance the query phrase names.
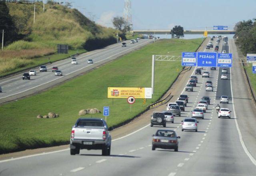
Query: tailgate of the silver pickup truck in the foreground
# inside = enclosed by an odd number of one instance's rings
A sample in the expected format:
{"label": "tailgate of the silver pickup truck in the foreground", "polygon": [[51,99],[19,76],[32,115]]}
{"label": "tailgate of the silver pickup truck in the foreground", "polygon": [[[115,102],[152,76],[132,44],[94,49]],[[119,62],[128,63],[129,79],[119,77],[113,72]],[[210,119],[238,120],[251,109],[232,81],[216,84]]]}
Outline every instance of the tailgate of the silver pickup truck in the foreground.
{"label": "tailgate of the silver pickup truck in the foreground", "polygon": [[75,139],[102,140],[104,128],[74,128]]}

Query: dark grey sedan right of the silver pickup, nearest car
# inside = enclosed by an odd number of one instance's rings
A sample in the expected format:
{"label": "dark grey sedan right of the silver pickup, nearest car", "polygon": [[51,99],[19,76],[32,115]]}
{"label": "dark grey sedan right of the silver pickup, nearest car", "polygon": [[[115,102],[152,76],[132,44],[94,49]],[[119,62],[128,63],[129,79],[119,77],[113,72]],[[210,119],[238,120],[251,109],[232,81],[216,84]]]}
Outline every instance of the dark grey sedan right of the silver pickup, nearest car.
{"label": "dark grey sedan right of the silver pickup, nearest car", "polygon": [[177,136],[174,130],[157,130],[156,134],[152,136],[152,150],[163,148],[174,149],[175,152],[178,152],[178,139],[180,136]]}

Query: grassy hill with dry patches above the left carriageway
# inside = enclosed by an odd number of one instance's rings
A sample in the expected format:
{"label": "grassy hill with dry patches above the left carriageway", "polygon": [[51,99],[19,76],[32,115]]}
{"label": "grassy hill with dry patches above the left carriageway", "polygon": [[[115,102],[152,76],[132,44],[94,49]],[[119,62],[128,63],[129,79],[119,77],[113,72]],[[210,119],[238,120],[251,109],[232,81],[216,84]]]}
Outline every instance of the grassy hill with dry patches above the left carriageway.
{"label": "grassy hill with dry patches above the left carriageway", "polygon": [[[57,44],[68,44],[69,54],[74,54],[116,42],[116,30],[96,25],[76,9],[49,2],[43,12],[42,2],[36,2],[34,23],[33,4],[7,3],[7,6],[23,38],[0,52],[0,75],[40,63],[40,57],[56,52]],[[56,58],[59,56],[51,57],[52,61]]]}

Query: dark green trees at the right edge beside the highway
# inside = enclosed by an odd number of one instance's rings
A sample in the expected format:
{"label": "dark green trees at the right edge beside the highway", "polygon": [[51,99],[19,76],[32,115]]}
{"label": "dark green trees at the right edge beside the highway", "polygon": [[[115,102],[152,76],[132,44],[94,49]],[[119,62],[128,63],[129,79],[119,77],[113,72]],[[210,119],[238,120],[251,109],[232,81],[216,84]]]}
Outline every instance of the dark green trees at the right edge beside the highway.
{"label": "dark green trees at the right edge beside the highway", "polygon": [[235,27],[236,45],[244,55],[256,53],[256,19],[240,21]]}

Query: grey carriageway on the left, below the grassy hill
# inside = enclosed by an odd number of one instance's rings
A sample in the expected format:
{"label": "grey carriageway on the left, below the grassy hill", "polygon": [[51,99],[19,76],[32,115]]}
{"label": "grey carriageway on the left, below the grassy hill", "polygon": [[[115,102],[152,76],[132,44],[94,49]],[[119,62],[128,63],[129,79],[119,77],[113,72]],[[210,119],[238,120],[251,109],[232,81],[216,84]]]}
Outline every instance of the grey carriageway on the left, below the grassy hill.
{"label": "grey carriageway on the left, below the grassy hill", "polygon": [[[145,46],[151,41],[153,40],[142,39],[139,40],[138,43],[135,42],[134,44],[130,44],[130,40],[127,40],[127,47],[121,47],[121,43],[118,43],[112,44],[103,49],[87,52],[77,57],[77,65],[72,65],[70,58],[60,60],[48,65],[47,72],[39,72],[39,69],[36,69],[37,75],[31,76],[30,80],[22,80],[22,74],[2,79],[0,80],[0,86],[2,86],[3,92],[0,93],[0,103],[38,93],[41,90],[45,90],[46,88],[73,78],[74,76],[83,74],[84,72],[96,68],[101,64]],[[88,59],[92,59],[94,64],[87,64]],[[51,72],[51,68],[53,66],[58,66],[58,69],[62,70],[63,76],[55,76],[54,72]]]}

